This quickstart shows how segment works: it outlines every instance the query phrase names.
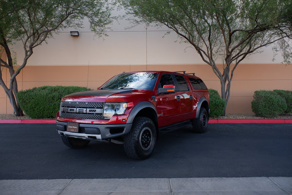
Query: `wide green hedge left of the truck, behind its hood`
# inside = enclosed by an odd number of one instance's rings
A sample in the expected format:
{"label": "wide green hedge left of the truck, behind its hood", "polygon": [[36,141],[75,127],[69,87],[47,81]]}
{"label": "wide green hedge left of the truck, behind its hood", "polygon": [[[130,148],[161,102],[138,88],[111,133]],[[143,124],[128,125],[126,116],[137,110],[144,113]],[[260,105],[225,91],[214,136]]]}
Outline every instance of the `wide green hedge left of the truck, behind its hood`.
{"label": "wide green hedge left of the truck, behind its hood", "polygon": [[21,109],[31,118],[55,118],[60,109],[61,98],[86,87],[43,86],[19,91],[17,98]]}

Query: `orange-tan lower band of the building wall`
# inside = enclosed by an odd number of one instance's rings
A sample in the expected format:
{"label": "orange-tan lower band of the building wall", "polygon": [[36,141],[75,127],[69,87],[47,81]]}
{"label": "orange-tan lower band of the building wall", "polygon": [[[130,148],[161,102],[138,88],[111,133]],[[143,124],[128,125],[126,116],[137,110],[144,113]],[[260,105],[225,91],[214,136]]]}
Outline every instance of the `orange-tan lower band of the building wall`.
{"label": "orange-tan lower band of the building wall", "polygon": [[[27,66],[18,76],[18,88],[25,90],[44,85],[73,85],[96,89],[116,74],[138,70],[196,72],[196,75],[205,81],[208,88],[220,90],[218,78],[205,64]],[[2,71],[3,76],[7,73],[7,71]],[[251,101],[256,90],[292,90],[292,66],[241,64],[234,77],[227,113],[251,113]],[[13,109],[2,88],[0,95],[0,113],[12,114]]]}

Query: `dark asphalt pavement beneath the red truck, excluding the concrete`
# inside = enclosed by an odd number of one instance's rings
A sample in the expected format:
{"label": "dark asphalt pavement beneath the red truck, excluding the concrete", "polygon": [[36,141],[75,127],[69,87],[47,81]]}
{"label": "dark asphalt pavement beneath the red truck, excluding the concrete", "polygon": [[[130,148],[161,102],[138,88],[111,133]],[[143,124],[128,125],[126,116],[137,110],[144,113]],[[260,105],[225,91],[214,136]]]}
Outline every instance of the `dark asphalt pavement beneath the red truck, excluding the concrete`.
{"label": "dark asphalt pavement beneath the red truck, excluding the concrete", "polygon": [[291,177],[292,124],[209,124],[160,134],[153,155],[129,159],[123,145],[65,146],[55,124],[0,124],[0,179]]}

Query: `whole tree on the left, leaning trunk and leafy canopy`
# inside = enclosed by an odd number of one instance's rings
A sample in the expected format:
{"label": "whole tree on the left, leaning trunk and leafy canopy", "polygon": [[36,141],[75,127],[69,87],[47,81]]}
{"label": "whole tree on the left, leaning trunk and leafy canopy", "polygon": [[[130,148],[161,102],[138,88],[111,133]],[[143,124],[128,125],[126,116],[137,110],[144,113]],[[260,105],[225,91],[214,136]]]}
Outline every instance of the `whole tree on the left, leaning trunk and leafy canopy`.
{"label": "whole tree on the left, leaning trunk and leafy canopy", "polygon": [[[23,116],[16,95],[16,77],[33,55],[34,49],[53,37],[53,32],[67,27],[81,27],[87,18],[91,30],[102,35],[110,24],[110,4],[107,0],[0,0],[0,45],[7,55],[0,59],[0,85],[3,87],[15,116]],[[21,42],[24,59],[14,64],[11,46]],[[16,66],[15,66],[16,65]],[[2,67],[8,68],[10,82],[2,79]]]}

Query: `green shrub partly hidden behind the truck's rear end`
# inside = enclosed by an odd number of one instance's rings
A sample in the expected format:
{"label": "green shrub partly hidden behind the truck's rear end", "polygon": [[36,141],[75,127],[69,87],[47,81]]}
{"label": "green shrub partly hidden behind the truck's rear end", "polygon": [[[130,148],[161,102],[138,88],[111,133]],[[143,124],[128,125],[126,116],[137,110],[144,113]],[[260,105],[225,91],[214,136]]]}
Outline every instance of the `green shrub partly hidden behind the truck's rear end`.
{"label": "green shrub partly hidden behind the truck's rear end", "polygon": [[210,117],[219,117],[223,114],[225,108],[225,100],[223,100],[218,91],[209,89],[210,96]]}

